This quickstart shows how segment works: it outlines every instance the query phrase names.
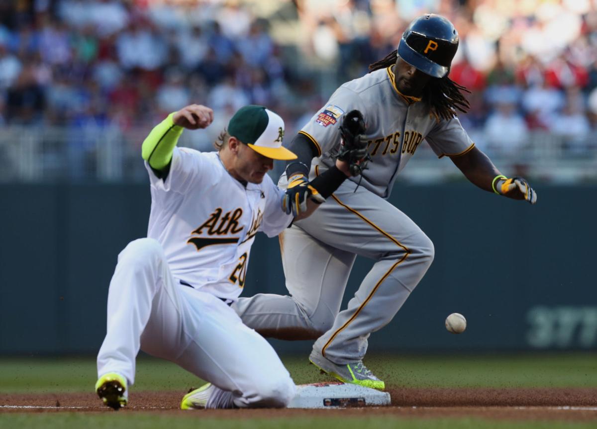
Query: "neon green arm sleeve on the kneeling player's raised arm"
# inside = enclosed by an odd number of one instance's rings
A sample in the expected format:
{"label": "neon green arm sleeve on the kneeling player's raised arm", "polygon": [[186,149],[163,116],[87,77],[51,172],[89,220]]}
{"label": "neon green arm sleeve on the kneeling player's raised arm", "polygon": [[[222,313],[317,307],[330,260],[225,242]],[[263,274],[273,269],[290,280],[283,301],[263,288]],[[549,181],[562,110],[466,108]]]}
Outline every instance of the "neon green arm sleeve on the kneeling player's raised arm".
{"label": "neon green arm sleeve on the kneeling player's raised arm", "polygon": [[163,171],[170,166],[174,147],[184,131],[183,127],[174,125],[173,115],[174,113],[170,113],[168,118],[156,125],[141,146],[141,156],[157,171]]}

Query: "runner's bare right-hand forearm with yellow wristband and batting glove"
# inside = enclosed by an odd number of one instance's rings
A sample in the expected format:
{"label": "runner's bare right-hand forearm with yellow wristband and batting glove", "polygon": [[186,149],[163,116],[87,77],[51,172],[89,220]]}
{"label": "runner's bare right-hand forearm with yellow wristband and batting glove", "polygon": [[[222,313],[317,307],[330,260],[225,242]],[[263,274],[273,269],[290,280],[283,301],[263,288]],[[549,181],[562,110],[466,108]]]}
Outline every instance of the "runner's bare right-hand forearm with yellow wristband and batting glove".
{"label": "runner's bare right-hand forearm with yellow wristband and batting glove", "polygon": [[531,204],[537,202],[537,193],[524,178],[507,178],[493,165],[489,157],[476,147],[451,159],[464,176],[481,189],[515,200],[527,200]]}

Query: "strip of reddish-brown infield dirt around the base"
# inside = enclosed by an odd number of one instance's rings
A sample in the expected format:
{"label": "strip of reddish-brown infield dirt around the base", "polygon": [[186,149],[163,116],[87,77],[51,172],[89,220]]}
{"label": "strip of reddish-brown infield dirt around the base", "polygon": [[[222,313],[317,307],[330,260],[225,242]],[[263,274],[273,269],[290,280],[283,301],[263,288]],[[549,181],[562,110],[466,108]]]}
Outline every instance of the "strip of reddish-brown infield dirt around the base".
{"label": "strip of reddish-brown infield dirt around the base", "polygon": [[[212,418],[285,418],[301,415],[393,415],[404,418],[476,416],[488,419],[597,421],[596,388],[401,388],[389,390],[392,405],[347,409],[205,410]],[[131,392],[119,412],[183,413],[184,392]],[[0,412],[114,412],[93,393],[0,394]]]}

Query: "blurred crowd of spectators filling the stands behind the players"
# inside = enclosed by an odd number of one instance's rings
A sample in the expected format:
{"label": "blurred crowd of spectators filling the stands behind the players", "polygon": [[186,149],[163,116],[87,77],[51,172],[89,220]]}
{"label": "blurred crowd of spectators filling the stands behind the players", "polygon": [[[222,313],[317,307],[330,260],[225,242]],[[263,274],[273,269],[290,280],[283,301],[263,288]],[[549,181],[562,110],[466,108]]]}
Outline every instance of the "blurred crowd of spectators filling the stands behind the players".
{"label": "blurred crowd of spectators filling the stands behind the players", "polygon": [[595,0],[14,0],[0,2],[0,124],[149,127],[189,103],[216,111],[205,149],[248,103],[296,131],[341,82],[396,48],[427,11],[450,18],[450,77],[479,146],[533,131],[582,154],[597,128]]}

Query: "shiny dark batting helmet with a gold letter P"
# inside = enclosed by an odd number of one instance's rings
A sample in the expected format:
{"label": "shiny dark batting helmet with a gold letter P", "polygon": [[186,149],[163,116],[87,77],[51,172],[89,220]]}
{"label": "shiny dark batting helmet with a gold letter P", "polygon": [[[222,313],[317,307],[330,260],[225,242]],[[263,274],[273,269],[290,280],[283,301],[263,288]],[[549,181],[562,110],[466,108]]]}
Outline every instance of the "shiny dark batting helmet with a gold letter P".
{"label": "shiny dark batting helmet with a gold letter P", "polygon": [[433,78],[450,71],[458,49],[458,32],[446,18],[426,14],[416,18],[402,33],[398,55],[408,64]]}

